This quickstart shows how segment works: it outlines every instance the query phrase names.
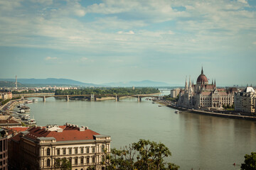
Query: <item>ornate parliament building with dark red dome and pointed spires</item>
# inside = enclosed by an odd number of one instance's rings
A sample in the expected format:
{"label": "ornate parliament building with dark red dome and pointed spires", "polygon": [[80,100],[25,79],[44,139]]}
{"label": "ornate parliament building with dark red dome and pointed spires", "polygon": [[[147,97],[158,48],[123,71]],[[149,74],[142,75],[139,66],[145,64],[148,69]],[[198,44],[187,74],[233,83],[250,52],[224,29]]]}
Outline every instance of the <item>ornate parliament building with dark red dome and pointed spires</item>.
{"label": "ornate parliament building with dark red dome and pointed spires", "polygon": [[196,84],[191,83],[191,79],[185,82],[185,89],[179,93],[177,106],[184,108],[220,108],[223,105],[232,106],[236,88],[217,89],[216,81],[208,84],[208,78],[201,74],[196,80]]}

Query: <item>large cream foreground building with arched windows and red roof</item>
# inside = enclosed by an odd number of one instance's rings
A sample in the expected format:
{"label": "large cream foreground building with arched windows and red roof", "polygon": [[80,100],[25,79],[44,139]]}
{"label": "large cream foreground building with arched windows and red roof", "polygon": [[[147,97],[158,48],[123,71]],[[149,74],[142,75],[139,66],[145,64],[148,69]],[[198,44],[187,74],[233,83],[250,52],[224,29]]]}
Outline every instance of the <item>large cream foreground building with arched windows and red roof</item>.
{"label": "large cream foreground building with arched windows and red roof", "polygon": [[59,158],[68,159],[72,170],[104,169],[100,163],[104,151],[110,153],[110,141],[108,135],[69,123],[34,126],[10,139],[9,160],[14,169],[55,169]]}

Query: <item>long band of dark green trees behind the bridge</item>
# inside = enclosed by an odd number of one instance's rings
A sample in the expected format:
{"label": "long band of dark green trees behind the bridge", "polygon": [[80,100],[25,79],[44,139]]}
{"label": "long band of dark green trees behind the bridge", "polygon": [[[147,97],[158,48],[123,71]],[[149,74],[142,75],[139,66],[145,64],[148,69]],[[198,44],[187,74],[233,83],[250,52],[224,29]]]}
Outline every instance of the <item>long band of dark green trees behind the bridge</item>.
{"label": "long band of dark green trees behind the bridge", "polygon": [[119,94],[119,95],[133,95],[133,94],[156,94],[160,91],[154,88],[86,88],[86,89],[68,89],[56,90],[55,95],[82,95],[82,94]]}

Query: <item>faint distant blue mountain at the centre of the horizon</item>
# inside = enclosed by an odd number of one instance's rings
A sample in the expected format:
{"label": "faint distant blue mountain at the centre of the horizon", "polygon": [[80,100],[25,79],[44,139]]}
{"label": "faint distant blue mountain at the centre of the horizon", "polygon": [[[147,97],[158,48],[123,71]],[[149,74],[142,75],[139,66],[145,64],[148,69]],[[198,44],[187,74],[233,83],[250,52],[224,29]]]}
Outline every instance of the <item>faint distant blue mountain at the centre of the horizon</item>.
{"label": "faint distant blue mountain at the centre of the horizon", "polygon": [[127,81],[127,82],[115,82],[115,83],[107,83],[105,86],[114,86],[114,87],[129,87],[129,86],[170,86],[164,82],[159,81],[151,81],[151,80],[143,80],[143,81]]}

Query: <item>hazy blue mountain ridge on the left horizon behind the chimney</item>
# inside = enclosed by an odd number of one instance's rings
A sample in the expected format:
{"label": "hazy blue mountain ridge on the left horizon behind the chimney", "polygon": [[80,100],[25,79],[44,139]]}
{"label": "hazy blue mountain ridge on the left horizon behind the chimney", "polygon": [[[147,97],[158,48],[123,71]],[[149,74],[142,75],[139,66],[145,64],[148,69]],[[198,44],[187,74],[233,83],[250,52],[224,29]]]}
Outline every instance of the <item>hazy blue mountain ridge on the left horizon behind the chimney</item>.
{"label": "hazy blue mountain ridge on the left horizon behind the chimney", "polygon": [[[0,79],[0,81],[16,81],[15,79]],[[73,86],[98,86],[97,84],[86,84],[81,81],[75,81],[72,79],[18,79],[18,83],[21,84],[45,84],[45,85],[73,85]]]}

